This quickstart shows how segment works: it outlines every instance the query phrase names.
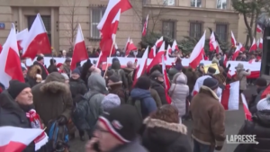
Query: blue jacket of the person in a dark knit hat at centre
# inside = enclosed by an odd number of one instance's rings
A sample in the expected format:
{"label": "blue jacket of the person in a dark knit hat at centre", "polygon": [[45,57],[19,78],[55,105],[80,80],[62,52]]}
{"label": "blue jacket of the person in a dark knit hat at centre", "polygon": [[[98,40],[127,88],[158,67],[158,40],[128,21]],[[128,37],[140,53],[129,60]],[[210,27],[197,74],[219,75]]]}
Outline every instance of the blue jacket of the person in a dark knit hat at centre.
{"label": "blue jacket of the person in a dark knit hat at centre", "polygon": [[132,100],[140,101],[140,112],[142,118],[148,117],[151,112],[157,111],[157,104],[149,90],[134,88],[130,92],[130,97]]}

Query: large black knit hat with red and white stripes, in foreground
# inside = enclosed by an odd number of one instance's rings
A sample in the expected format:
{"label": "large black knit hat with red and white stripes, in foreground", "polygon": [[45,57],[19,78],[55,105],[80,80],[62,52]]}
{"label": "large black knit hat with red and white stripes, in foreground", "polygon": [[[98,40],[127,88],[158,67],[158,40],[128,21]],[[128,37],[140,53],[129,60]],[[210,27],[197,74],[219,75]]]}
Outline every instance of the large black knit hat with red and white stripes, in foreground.
{"label": "large black knit hat with red and white stripes, in foreground", "polygon": [[104,112],[98,120],[114,138],[122,143],[130,143],[136,139],[142,123],[136,108],[129,104],[123,104],[113,108],[110,112]]}

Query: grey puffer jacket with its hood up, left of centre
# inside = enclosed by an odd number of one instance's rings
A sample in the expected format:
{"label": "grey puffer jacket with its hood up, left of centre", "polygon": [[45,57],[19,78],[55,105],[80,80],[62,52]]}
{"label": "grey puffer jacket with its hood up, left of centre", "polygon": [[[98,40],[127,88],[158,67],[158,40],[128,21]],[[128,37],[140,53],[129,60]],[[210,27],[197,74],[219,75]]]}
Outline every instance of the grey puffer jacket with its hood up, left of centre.
{"label": "grey puffer jacket with its hood up, left of centre", "polygon": [[103,113],[102,100],[108,94],[103,76],[92,74],[88,78],[89,92],[74,110],[73,121],[78,130],[87,130],[92,135],[98,116]]}

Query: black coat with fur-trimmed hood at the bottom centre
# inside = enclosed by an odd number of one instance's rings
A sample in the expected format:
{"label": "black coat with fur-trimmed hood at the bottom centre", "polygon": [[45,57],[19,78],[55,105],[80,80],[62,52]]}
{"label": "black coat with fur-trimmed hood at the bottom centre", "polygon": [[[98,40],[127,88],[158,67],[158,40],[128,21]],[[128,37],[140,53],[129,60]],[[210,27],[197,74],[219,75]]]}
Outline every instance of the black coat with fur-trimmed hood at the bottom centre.
{"label": "black coat with fur-trimmed hood at the bottom centre", "polygon": [[144,121],[142,145],[149,152],[192,152],[184,124],[168,123],[149,117]]}

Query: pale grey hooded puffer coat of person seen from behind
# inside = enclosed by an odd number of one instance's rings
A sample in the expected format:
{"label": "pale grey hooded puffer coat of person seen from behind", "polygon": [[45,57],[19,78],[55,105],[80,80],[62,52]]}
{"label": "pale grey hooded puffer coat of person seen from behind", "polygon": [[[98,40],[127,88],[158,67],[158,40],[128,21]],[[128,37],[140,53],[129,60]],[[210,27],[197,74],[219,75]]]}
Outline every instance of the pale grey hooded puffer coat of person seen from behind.
{"label": "pale grey hooded puffer coat of person seen from behind", "polygon": [[172,105],[175,105],[178,109],[179,117],[182,117],[185,114],[186,97],[189,95],[189,87],[186,83],[187,78],[183,73],[181,73],[175,77],[175,84],[172,84],[169,89]]}

